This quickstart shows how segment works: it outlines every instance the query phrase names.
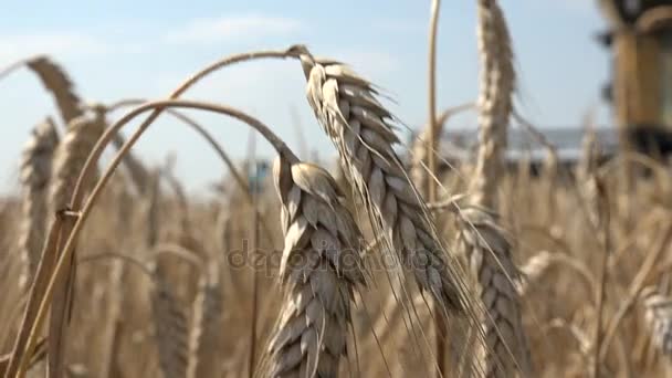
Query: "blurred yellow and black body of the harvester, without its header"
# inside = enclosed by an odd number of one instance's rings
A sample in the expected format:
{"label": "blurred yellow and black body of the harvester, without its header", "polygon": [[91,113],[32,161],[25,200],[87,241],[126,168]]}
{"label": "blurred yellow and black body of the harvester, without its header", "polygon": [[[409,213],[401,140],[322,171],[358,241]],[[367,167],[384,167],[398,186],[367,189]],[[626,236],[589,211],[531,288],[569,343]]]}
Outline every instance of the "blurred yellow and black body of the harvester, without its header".
{"label": "blurred yellow and black body of the harvester, without its header", "polygon": [[609,30],[612,104],[619,139],[647,154],[672,154],[672,0],[599,0]]}

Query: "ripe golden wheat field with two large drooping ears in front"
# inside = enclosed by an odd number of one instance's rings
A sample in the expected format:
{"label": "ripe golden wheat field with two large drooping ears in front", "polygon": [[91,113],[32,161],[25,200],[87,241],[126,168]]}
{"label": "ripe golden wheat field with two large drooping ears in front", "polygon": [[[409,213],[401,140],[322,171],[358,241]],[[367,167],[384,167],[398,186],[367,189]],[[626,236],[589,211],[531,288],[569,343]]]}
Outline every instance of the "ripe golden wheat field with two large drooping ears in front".
{"label": "ripe golden wheat field with two large drooping ears in front", "polygon": [[[575,166],[529,124],[547,158],[506,164],[510,124],[524,123],[515,51],[497,1],[477,0],[476,19],[479,98],[438,108],[430,32],[428,123],[411,144],[376,83],[302,44],[115,104],[82,101],[59,56],[3,69],[0,91],[29,70],[60,114],[35,119],[19,189],[0,198],[0,377],[671,376],[670,169],[601,159],[589,124]],[[189,99],[210,73],[262,59],[304,73],[335,164],[301,160],[272,119]],[[248,179],[255,162],[230,158],[193,109],[261,135],[272,172]],[[449,161],[437,151],[458,112],[480,134]],[[134,154],[161,113],[222,158],[211,193]]]}

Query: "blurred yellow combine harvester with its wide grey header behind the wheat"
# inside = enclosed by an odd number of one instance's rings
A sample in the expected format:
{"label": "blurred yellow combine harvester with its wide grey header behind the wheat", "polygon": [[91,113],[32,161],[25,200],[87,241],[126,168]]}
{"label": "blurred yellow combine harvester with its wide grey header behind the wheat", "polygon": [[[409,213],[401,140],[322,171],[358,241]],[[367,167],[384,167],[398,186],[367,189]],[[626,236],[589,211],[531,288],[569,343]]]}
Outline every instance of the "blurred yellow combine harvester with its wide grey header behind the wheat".
{"label": "blurred yellow combine harvester with its wide grey header behind the wheat", "polygon": [[[611,80],[602,93],[616,125],[596,129],[599,159],[609,159],[619,149],[666,158],[672,155],[672,0],[598,3],[609,28],[599,34],[599,41],[611,55]],[[585,130],[539,132],[555,146],[558,164],[571,168],[578,162]],[[452,130],[441,156],[451,164],[470,159],[476,138],[475,132]],[[547,157],[547,148],[528,133],[512,129],[507,151],[511,168],[525,158],[536,172]]]}

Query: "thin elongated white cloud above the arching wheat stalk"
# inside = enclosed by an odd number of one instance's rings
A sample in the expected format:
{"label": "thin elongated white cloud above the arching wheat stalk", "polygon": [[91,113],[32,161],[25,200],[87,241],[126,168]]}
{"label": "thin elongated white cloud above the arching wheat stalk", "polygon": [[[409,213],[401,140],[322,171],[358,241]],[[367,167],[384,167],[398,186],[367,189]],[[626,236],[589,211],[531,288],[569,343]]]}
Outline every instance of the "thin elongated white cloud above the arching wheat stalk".
{"label": "thin elongated white cloud above the arching wheat stalk", "polygon": [[243,14],[213,19],[196,19],[168,33],[168,43],[216,43],[237,38],[259,38],[272,34],[291,34],[301,30],[301,22],[295,19],[269,17],[262,14]]}

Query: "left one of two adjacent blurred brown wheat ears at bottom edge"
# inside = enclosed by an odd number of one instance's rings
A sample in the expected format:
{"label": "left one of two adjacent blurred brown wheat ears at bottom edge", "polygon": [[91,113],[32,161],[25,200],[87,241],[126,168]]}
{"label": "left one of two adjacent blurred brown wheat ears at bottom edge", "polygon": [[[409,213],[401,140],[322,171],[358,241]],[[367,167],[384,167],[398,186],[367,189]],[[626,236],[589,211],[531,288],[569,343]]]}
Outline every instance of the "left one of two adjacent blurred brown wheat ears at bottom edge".
{"label": "left one of two adjacent blurred brown wheat ears at bottom edge", "polygon": [[153,281],[151,317],[159,367],[164,378],[183,378],[187,376],[189,349],[187,316],[158,263],[154,270]]}

